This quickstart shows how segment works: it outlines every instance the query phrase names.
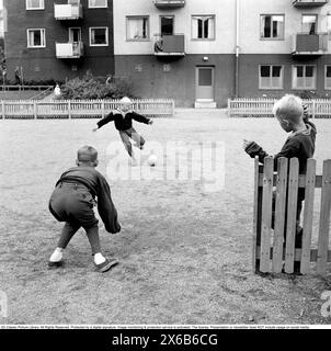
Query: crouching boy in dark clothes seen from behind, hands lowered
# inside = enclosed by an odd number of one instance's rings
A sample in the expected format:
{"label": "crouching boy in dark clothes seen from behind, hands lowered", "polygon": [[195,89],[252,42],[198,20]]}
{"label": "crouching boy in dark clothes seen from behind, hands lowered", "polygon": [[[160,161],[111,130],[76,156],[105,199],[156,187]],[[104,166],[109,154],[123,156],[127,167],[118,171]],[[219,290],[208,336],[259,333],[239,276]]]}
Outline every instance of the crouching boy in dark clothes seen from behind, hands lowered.
{"label": "crouching boy in dark clothes seen from behind, hands lowered", "polygon": [[105,178],[95,170],[98,151],[92,146],[83,146],[77,152],[77,167],[67,170],[56,183],[49,200],[49,211],[59,222],[66,222],[57,248],[50,256],[49,268],[62,265],[62,252],[70,239],[83,227],[89,238],[94,264],[99,272],[106,272],[117,264],[116,259],[107,259],[101,253],[98,219],[93,206],[98,197],[98,212],[109,233],[118,233],[117,212]]}

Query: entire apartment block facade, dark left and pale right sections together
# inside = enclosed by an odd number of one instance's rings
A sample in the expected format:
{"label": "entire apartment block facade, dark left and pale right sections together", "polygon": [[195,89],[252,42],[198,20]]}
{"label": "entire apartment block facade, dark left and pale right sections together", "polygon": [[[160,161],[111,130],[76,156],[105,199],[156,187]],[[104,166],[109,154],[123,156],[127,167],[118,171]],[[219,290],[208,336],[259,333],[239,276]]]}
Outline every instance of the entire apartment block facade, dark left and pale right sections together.
{"label": "entire apartment block facade, dark left and pale right sections together", "polygon": [[125,76],[136,97],[331,94],[330,0],[5,0],[7,75]]}

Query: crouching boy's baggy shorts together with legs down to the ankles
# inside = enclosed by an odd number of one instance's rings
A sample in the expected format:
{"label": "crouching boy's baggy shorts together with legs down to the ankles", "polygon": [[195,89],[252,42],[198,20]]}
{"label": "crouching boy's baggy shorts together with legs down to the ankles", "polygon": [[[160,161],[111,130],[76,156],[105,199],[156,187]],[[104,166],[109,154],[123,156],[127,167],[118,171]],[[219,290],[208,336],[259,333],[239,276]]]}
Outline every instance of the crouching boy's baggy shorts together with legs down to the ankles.
{"label": "crouching boy's baggy shorts together with legs down to the ankles", "polygon": [[101,252],[99,220],[93,212],[94,200],[80,183],[59,183],[49,200],[49,211],[59,222],[66,222],[58,247],[65,249],[80,227],[87,231],[92,254]]}

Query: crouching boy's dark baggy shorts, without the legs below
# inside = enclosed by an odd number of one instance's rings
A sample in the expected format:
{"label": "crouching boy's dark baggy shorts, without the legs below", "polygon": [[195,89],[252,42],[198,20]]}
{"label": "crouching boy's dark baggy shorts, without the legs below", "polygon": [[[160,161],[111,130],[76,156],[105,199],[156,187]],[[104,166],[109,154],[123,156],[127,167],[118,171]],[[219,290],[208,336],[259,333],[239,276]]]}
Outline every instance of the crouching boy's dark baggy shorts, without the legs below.
{"label": "crouching boy's dark baggy shorts, without the legs below", "polygon": [[49,200],[49,211],[59,222],[80,225],[83,228],[98,226],[94,199],[88,188],[80,183],[59,183]]}

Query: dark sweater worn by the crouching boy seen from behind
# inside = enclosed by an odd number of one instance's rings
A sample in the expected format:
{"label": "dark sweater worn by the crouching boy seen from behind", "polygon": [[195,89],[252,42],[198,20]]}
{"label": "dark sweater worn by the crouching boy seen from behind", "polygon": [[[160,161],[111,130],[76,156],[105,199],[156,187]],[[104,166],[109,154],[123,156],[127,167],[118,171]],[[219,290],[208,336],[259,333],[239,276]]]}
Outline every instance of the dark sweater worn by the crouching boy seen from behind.
{"label": "dark sweater worn by the crouching boy seen from behind", "polygon": [[92,196],[98,197],[98,212],[109,233],[121,230],[117,211],[113,204],[111,189],[105,178],[93,167],[72,167],[61,174],[56,186],[61,182],[81,183],[88,188]]}

